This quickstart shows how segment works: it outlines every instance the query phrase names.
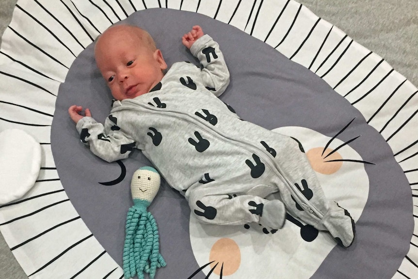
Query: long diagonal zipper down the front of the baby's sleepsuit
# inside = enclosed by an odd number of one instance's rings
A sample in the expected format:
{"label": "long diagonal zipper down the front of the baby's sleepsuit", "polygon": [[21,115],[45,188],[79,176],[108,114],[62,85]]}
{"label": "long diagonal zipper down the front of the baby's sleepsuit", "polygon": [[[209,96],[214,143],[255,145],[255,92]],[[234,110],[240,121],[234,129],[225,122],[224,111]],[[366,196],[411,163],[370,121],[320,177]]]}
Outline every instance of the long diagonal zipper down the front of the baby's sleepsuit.
{"label": "long diagonal zipper down the front of the baby's sleepsuit", "polygon": [[[128,102],[131,103],[130,100],[128,100]],[[199,121],[194,121],[194,122],[189,121],[188,119],[189,118],[192,118],[193,119],[193,117],[190,116],[190,115],[188,115],[188,114],[186,114],[186,113],[181,113],[181,112],[177,112],[177,111],[168,111],[166,109],[160,109],[160,108],[156,108],[156,107],[146,106],[145,104],[139,103],[139,102],[138,103],[137,102],[134,102],[134,103],[132,103],[132,105],[144,107],[147,111],[152,111],[153,114],[166,115],[165,113],[171,113],[171,114],[179,115],[179,116],[176,116],[176,117],[177,118],[180,118],[180,119],[182,119],[182,120],[184,120],[186,122],[192,123],[193,125],[198,126],[200,129],[202,129],[204,131],[207,131],[207,132],[208,132],[208,130],[214,131],[216,134],[218,134],[219,136],[221,136],[223,139],[227,139],[230,144],[239,146],[241,148],[245,148],[245,149],[247,149],[248,151],[250,151],[250,152],[252,152],[254,154],[258,153],[258,151],[259,151],[259,149],[257,147],[254,147],[251,143],[247,143],[247,142],[244,142],[244,141],[241,142],[241,141],[238,141],[238,140],[230,139],[230,138],[222,135],[221,133],[219,133],[215,129],[213,129],[213,127],[208,128],[206,125],[200,123]],[[163,112],[165,112],[165,113],[163,113]],[[186,116],[186,117],[184,117],[184,116]],[[211,134],[210,132],[208,132],[208,133]],[[240,144],[236,144],[236,142],[239,142],[241,145]],[[254,152],[255,151],[254,149],[257,152]],[[301,206],[303,206],[304,209],[307,212],[309,212],[311,215],[313,215],[315,217],[315,219],[318,219],[318,218],[319,219],[322,219],[323,218],[324,214],[321,211],[319,211],[318,209],[316,209],[309,202],[309,200],[300,191],[295,190],[295,189],[292,188],[291,181],[282,173],[282,171],[280,170],[280,166],[279,165],[274,164],[274,162],[272,162],[273,160],[270,159],[268,156],[266,156],[266,154],[264,154],[263,152],[261,152],[261,154],[258,153],[256,155],[257,156],[258,155],[261,155],[259,157],[263,157],[264,162],[269,165],[270,169],[272,169],[274,173],[276,173],[276,171],[279,172],[279,175],[282,176],[285,179],[285,182],[286,182],[285,185],[288,186],[287,188],[290,191],[290,193],[292,195],[294,195],[295,198],[298,199],[297,202]],[[272,167],[272,164],[273,164],[273,167]],[[276,176],[278,176],[279,179],[280,179],[280,176],[279,175],[276,173]]]}

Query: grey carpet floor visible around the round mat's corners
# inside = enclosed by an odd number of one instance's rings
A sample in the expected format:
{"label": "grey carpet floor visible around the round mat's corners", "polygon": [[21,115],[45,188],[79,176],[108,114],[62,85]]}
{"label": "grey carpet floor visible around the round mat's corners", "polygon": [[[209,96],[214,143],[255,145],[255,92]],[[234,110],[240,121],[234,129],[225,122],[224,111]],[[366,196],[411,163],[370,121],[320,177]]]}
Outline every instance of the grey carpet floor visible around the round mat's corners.
{"label": "grey carpet floor visible around the round mat's corners", "polygon": [[[299,0],[418,85],[418,0]],[[0,35],[16,0],[0,0]],[[0,41],[1,42],[1,41]],[[0,234],[0,279],[27,278]]]}

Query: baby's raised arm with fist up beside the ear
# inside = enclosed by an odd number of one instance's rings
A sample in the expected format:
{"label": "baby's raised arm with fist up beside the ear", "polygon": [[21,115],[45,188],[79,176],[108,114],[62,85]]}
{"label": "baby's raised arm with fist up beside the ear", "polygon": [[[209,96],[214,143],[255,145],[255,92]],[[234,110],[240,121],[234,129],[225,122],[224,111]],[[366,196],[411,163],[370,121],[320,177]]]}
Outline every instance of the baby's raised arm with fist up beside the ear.
{"label": "baby's raised arm with fist up beside the ear", "polygon": [[224,93],[229,84],[229,71],[219,45],[200,26],[183,35],[182,43],[190,49],[203,66],[204,85],[215,95]]}

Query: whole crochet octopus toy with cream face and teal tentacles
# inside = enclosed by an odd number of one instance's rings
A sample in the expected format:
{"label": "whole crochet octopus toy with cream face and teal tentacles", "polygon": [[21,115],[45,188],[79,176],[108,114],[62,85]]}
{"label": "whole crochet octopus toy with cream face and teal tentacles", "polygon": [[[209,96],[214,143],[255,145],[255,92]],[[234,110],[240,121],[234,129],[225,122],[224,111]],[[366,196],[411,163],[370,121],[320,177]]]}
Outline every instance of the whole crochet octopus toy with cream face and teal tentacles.
{"label": "whole crochet octopus toy with cream face and teal tentacles", "polygon": [[132,176],[130,184],[133,206],[126,219],[126,238],[123,249],[125,278],[136,274],[145,279],[144,272],[153,279],[157,268],[165,266],[159,242],[157,223],[147,207],[160,189],[160,175],[152,167],[141,167]]}

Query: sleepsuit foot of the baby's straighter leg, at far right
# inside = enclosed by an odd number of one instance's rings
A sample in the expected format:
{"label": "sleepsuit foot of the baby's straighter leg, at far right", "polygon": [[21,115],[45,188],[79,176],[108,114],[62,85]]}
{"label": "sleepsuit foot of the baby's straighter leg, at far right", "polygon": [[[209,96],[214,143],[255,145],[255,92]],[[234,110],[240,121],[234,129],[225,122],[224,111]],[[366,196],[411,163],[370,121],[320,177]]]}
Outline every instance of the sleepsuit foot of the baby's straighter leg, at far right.
{"label": "sleepsuit foot of the baby's straighter leg, at far right", "polygon": [[349,247],[353,244],[355,237],[354,220],[350,213],[335,201],[330,202],[328,212],[315,227],[318,230],[325,227],[341,246]]}

